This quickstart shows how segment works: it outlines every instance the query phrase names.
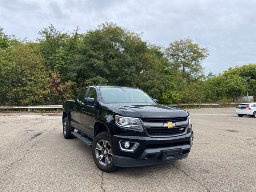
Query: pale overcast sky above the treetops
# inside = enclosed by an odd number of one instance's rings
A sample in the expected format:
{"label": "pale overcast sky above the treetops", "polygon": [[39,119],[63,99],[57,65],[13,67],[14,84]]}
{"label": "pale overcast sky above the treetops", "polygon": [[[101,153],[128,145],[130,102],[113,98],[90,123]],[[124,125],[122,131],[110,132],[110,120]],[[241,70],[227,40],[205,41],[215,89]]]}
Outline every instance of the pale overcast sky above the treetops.
{"label": "pale overcast sky above the treetops", "polygon": [[22,39],[35,40],[50,23],[86,32],[103,22],[162,46],[192,38],[210,50],[206,74],[256,63],[256,0],[0,0],[0,27]]}

